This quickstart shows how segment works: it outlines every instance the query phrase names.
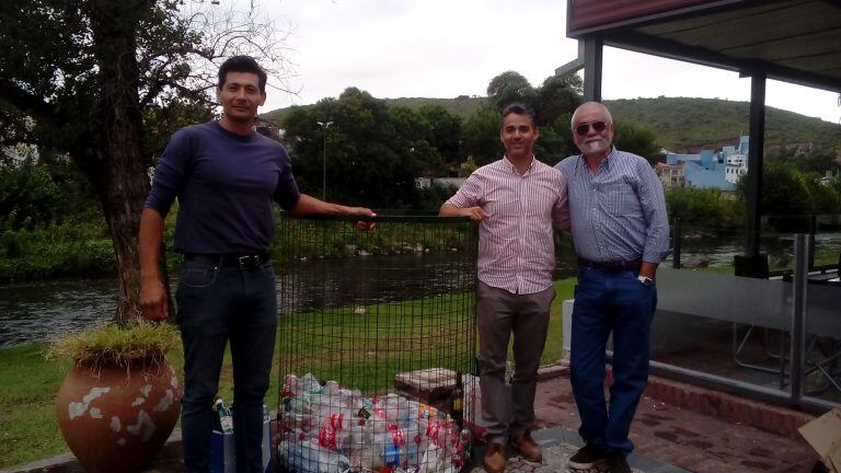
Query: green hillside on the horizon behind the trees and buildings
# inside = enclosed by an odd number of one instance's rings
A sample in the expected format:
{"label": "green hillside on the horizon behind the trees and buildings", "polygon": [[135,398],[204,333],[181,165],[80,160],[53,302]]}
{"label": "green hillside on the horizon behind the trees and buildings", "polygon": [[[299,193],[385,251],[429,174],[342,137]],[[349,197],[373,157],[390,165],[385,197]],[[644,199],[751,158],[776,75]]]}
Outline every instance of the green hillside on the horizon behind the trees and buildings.
{"label": "green hillside on the horizon behind the trees and buildings", "polygon": [[[457,99],[385,99],[390,105],[417,109],[423,105],[440,105],[450,113],[468,118],[485,97]],[[670,151],[695,152],[700,148],[718,149],[735,145],[749,128],[748,102],[718,99],[657,97],[606,101],[617,122],[631,123],[654,131],[659,145]],[[283,120],[290,108],[278,108],[264,117]],[[839,108],[841,115],[841,108]],[[820,147],[841,148],[841,125],[768,107],[765,142],[769,147],[813,142]]]}

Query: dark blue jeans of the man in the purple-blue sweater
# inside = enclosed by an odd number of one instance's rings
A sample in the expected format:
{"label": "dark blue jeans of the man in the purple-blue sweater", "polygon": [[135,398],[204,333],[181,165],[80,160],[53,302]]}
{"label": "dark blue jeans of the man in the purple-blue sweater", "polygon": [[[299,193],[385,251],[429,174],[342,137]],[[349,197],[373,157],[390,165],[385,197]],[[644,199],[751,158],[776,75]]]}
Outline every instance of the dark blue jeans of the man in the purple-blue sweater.
{"label": "dark blue jeans of the man in the purple-blue sweater", "polygon": [[274,267],[266,263],[241,270],[185,261],[175,299],[184,343],[181,430],[186,470],[209,471],[212,404],[230,341],[237,471],[262,473],[263,397],[277,328]]}

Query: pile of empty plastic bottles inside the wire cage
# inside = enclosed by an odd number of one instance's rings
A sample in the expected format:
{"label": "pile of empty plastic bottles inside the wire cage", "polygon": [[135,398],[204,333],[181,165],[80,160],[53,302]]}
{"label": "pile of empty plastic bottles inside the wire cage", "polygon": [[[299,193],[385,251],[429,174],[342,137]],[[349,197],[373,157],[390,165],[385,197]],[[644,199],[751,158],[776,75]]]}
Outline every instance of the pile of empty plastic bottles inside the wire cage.
{"label": "pile of empty plastic bottles inside the wire cage", "polygon": [[295,473],[456,473],[470,431],[435,407],[398,394],[368,397],[311,373],[287,374],[279,458]]}

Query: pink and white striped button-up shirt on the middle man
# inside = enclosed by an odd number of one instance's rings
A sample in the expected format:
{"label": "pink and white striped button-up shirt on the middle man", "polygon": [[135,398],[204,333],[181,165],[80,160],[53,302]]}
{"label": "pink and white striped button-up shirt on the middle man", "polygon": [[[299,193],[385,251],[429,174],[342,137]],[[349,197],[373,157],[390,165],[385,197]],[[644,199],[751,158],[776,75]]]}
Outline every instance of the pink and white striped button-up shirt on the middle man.
{"label": "pink and white striped button-up shirt on the middle man", "polygon": [[566,180],[532,159],[520,175],[507,158],[477,169],[449,200],[482,207],[479,279],[511,293],[534,293],[552,285],[555,246],[552,222],[569,228]]}

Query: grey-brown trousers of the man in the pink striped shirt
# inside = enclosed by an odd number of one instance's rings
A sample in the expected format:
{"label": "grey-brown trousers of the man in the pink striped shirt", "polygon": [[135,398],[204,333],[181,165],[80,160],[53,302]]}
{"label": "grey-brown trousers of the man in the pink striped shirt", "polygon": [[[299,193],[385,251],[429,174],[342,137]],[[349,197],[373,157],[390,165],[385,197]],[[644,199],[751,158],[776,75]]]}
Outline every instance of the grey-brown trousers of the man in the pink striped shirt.
{"label": "grey-brown trousers of the man in the pink striped shirt", "polygon": [[[479,383],[485,438],[503,443],[509,435],[532,428],[538,368],[549,328],[549,311],[555,288],[515,295],[479,282]],[[508,342],[514,334],[515,371],[510,392],[505,384]],[[512,412],[514,418],[509,418]]]}

